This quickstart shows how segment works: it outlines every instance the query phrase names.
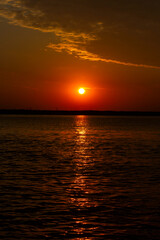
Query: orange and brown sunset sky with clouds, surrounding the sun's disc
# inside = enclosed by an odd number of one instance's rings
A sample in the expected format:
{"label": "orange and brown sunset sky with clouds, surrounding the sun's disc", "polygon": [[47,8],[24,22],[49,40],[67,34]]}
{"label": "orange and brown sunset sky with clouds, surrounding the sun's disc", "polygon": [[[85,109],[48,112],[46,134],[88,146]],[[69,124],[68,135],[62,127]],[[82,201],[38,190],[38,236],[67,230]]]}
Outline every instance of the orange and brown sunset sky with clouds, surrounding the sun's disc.
{"label": "orange and brown sunset sky with clouds, surrounding the sun's disc", "polygon": [[160,111],[158,1],[3,0],[0,9],[1,109]]}

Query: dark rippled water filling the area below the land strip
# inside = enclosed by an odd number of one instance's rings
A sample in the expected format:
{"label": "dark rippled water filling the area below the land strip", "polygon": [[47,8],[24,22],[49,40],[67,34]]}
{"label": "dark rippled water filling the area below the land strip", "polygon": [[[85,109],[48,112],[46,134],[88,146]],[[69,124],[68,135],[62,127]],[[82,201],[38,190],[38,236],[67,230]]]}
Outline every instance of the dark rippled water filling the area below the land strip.
{"label": "dark rippled water filling the area below the land strip", "polygon": [[0,239],[160,239],[160,117],[0,116]]}

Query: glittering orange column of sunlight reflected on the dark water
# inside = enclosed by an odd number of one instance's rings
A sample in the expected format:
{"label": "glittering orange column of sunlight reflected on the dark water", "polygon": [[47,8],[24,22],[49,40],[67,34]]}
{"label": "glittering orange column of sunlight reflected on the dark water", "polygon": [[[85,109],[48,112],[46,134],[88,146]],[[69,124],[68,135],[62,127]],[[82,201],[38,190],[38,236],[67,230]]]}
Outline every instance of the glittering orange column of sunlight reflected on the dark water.
{"label": "glittering orange column of sunlight reflected on the dark water", "polygon": [[[90,155],[90,142],[88,138],[88,117],[75,117],[75,150],[74,150],[74,179],[70,185],[70,207],[76,213],[73,232],[78,238],[87,239],[86,233],[92,233],[95,226],[90,223],[88,213],[97,203],[91,197],[94,194],[91,168],[94,165]],[[85,236],[82,237],[81,236]]]}

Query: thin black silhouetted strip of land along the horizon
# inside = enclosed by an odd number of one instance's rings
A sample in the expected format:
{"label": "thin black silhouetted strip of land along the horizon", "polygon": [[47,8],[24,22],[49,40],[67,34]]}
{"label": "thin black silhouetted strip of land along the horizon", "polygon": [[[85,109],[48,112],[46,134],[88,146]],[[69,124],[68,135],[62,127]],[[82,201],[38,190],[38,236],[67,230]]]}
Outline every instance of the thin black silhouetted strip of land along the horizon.
{"label": "thin black silhouetted strip of land along the horizon", "polygon": [[0,114],[16,115],[101,115],[101,116],[160,116],[160,112],[140,111],[97,111],[97,110],[25,110],[25,109],[0,109]]}

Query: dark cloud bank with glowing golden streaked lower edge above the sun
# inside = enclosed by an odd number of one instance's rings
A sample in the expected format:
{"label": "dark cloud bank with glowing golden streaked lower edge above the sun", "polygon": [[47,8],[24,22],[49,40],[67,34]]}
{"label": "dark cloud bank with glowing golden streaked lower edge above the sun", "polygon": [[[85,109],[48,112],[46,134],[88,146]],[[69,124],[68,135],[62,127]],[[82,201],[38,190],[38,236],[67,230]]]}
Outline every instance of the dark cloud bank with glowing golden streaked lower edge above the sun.
{"label": "dark cloud bank with glowing golden streaked lower edge above the sun", "polygon": [[[160,27],[159,10],[160,3],[150,0],[0,2],[0,15],[10,23],[42,32],[53,32],[58,37],[58,43],[52,42],[48,47],[54,51],[66,51],[89,61],[156,69],[160,67],[132,63],[132,59],[137,58],[139,62],[139,58],[143,60],[143,56],[147,55],[148,62],[152,58],[154,62],[159,61],[158,57],[154,59],[150,50],[156,48],[160,52],[160,34],[157,31]],[[122,48],[123,51],[120,51]]]}

